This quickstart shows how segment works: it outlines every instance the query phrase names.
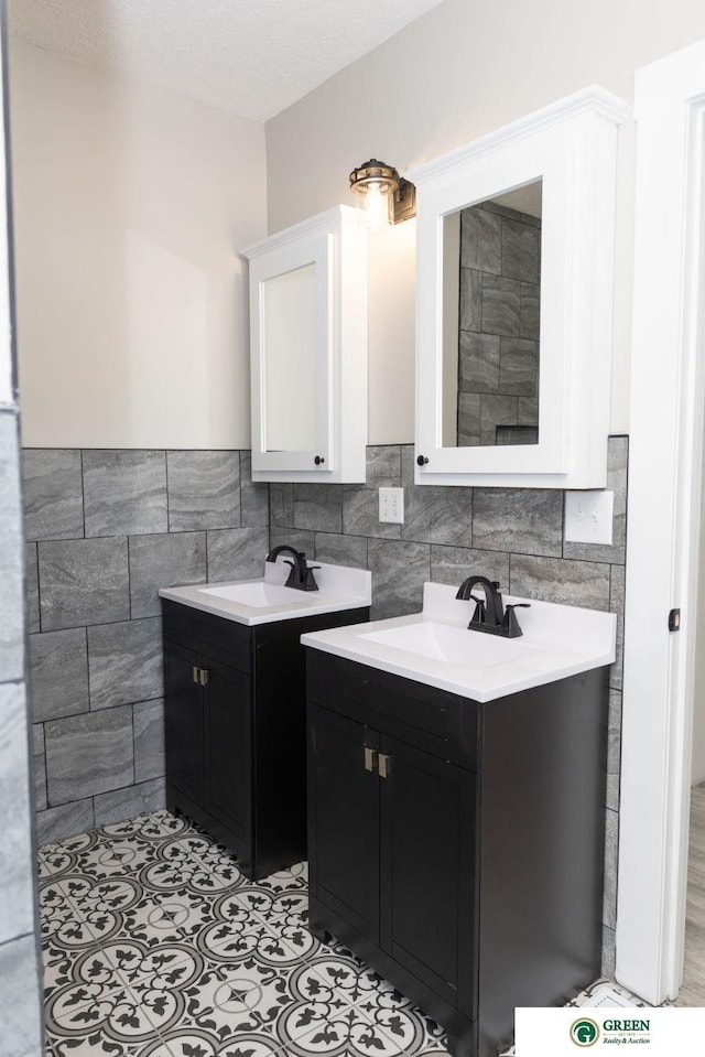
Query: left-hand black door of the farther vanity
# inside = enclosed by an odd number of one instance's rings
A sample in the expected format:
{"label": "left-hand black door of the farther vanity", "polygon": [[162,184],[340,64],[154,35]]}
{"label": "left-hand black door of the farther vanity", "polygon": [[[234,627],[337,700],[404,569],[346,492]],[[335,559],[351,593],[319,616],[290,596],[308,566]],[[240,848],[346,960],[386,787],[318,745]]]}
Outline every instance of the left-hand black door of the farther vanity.
{"label": "left-hand black door of the farther vanity", "polygon": [[194,679],[198,655],[164,643],[166,780],[203,803],[203,690]]}

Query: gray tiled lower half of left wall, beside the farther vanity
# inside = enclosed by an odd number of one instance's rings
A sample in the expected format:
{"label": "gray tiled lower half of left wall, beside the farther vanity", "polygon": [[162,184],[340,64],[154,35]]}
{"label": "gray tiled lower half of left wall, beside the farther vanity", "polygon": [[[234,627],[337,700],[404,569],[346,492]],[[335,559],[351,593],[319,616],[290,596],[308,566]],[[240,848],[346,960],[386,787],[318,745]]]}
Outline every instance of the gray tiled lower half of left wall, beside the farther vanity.
{"label": "gray tiled lower half of left wall, beside the farther vanity", "polygon": [[43,844],[163,806],[158,590],[261,575],[269,495],[238,451],[28,449],[22,476]]}

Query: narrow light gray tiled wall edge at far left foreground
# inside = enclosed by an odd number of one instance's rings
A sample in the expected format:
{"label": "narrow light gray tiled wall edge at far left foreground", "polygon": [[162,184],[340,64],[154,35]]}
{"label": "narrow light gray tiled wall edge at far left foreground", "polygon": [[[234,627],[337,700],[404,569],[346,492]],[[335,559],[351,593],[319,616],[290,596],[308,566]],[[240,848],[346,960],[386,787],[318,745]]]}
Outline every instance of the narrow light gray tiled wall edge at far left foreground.
{"label": "narrow light gray tiled wall edge at far left foreground", "polygon": [[34,797],[25,678],[22,503],[18,416],[0,408],[0,1050],[7,1057],[41,1057],[43,1020],[36,943]]}

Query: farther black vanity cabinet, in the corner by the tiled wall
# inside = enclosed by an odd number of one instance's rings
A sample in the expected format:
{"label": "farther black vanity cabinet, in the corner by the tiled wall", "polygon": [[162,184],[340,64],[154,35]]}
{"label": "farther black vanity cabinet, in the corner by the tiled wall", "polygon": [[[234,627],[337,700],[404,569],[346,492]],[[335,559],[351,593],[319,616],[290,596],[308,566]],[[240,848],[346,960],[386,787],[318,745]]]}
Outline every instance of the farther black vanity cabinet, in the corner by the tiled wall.
{"label": "farther black vanity cabinet, in the corner by the tiled wall", "polygon": [[259,880],[306,858],[304,632],[347,610],[247,626],[162,600],[166,806]]}

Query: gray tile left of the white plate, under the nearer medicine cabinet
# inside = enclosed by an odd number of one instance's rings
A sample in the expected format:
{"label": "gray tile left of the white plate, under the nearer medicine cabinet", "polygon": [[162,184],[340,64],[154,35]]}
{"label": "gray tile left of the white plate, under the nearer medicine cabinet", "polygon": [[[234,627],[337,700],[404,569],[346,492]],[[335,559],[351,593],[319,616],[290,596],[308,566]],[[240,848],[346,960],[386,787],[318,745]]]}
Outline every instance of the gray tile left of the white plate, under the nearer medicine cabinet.
{"label": "gray tile left of the white plate, under the nearer medicine cabinet", "polygon": [[563,493],[552,488],[476,488],[473,546],[521,554],[561,554]]}

